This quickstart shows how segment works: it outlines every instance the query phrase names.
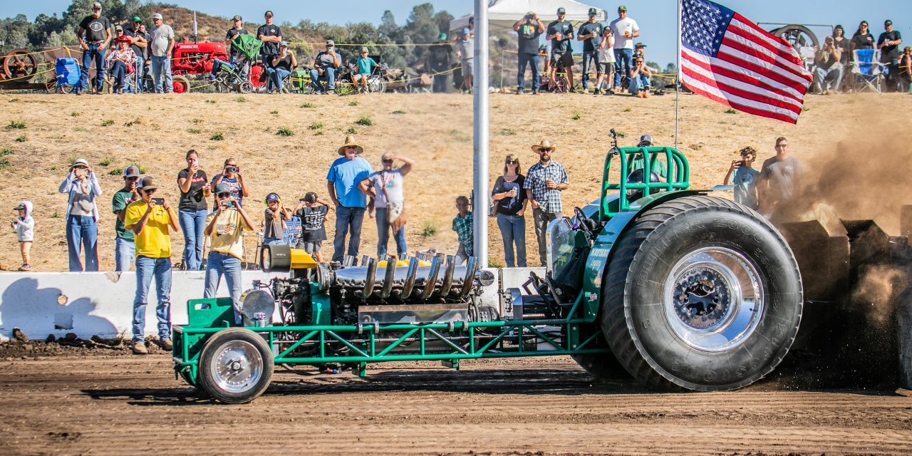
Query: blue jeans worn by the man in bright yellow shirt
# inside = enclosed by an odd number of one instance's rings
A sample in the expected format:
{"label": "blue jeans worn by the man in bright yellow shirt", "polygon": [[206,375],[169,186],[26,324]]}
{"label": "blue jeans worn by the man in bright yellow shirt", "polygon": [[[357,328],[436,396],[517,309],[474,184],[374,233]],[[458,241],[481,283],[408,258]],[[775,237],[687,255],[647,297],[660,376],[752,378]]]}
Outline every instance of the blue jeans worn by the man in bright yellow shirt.
{"label": "blue jeans worn by the man in bright yellow shirt", "polygon": [[136,257],[136,297],[133,298],[133,343],[146,338],[146,304],[152,277],[159,304],[155,316],[159,319],[159,338],[171,339],[171,258]]}

